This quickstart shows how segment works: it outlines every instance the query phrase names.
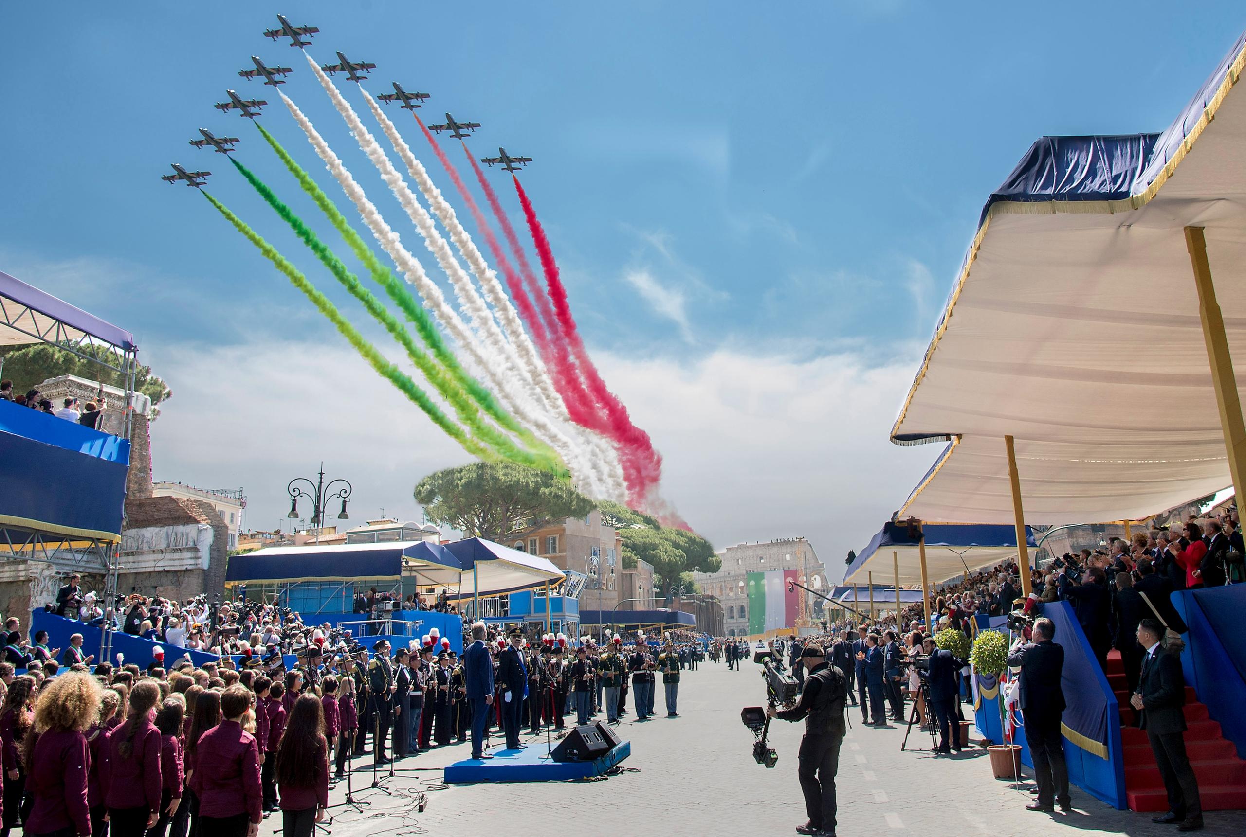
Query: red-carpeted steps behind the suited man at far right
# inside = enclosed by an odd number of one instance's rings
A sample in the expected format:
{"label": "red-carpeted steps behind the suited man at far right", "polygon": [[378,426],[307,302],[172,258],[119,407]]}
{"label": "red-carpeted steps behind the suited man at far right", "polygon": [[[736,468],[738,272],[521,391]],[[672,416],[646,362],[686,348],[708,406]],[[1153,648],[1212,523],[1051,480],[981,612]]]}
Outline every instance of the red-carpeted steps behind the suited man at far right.
{"label": "red-carpeted steps behind the suited man at far right", "polygon": [[[1129,685],[1120,653],[1108,655],[1108,683],[1120,705],[1120,741],[1125,756],[1125,796],[1130,811],[1168,811],[1168,793],[1146,731],[1138,729],[1138,710],[1129,705]],[[1246,808],[1246,761],[1237,757],[1232,741],[1220,735],[1199,702],[1194,686],[1185,688],[1185,751],[1199,778],[1204,811]]]}

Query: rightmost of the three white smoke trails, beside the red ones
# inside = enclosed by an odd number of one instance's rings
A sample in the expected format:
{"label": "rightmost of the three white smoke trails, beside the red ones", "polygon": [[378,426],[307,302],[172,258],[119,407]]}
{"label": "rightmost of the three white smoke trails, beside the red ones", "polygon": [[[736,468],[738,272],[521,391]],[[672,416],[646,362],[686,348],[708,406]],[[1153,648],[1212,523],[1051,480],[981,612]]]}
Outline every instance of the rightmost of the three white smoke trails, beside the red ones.
{"label": "rightmost of the three white smoke trails, beside the red ones", "polygon": [[[506,295],[506,291],[502,289],[502,284],[497,280],[497,274],[485,262],[485,257],[476,247],[476,243],[471,239],[467,230],[464,229],[462,223],[459,222],[459,217],[455,214],[454,207],[451,207],[445,197],[442,197],[441,189],[439,189],[432,182],[432,178],[429,177],[429,172],[425,169],[424,163],[421,163],[411,152],[411,147],[406,144],[405,140],[402,140],[402,135],[399,133],[394,122],[385,115],[368,91],[360,88],[360,93],[363,93],[364,101],[368,102],[368,107],[371,110],[373,116],[376,117],[376,121],[380,123],[381,130],[389,138],[390,144],[394,146],[394,151],[396,151],[399,158],[401,158],[402,164],[406,166],[407,173],[411,174],[411,178],[415,181],[420,192],[429,202],[432,212],[437,215],[441,225],[445,227],[447,233],[450,233],[450,238],[455,243],[455,247],[462,254],[467,267],[480,281],[488,301],[492,303],[493,310],[497,313],[497,318],[501,321],[502,330],[506,333],[506,336],[510,338],[510,343],[506,345],[506,349],[510,350],[508,354],[511,354],[512,361],[516,366],[527,372],[528,380],[543,396],[542,400],[545,405],[551,410],[554,417],[559,420],[564,428],[574,436],[578,436],[584,445],[593,448],[593,455],[589,457],[589,461],[596,466],[598,480],[612,489],[612,498],[624,498],[627,496],[627,486],[623,482],[623,470],[618,463],[618,452],[614,450],[614,446],[599,433],[583,428],[571,421],[571,417],[567,414],[567,407],[557,390],[554,390],[553,381],[549,380],[545,364],[541,362],[536,348],[528,339],[527,331],[523,330],[523,324],[520,321],[515,306],[511,305],[510,296]],[[466,280],[466,277],[464,279]],[[475,288],[470,288],[470,290],[475,294]]]}

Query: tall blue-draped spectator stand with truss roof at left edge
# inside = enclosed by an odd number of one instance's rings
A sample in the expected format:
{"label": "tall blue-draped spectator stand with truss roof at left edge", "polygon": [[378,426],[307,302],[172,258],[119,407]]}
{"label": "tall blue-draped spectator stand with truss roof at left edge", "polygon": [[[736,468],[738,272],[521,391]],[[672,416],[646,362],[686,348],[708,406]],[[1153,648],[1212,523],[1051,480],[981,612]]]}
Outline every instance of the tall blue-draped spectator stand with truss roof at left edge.
{"label": "tall blue-draped spectator stand with truss roof at left edge", "polygon": [[[46,343],[125,379],[120,437],[0,401],[0,559],[103,578],[116,604],[137,346],[133,335],[0,272],[0,345]],[[4,359],[0,357],[0,375]],[[31,603],[35,609],[36,603]],[[111,620],[100,645],[111,648]]]}

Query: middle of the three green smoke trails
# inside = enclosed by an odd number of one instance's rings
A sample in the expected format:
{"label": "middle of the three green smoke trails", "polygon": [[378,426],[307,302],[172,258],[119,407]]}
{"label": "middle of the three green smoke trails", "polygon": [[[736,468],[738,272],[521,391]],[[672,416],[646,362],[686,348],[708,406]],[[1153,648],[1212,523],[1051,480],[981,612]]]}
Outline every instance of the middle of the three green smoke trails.
{"label": "middle of the three green smoke trails", "polygon": [[464,391],[449,379],[437,364],[429,357],[411,339],[410,333],[402,324],[395,318],[389,310],[381,305],[380,300],[373,296],[371,293],[364,288],[359,279],[351,274],[346,265],[330,250],[314,232],[312,232],[303,219],[295,215],[289,207],[282,203],[280,199],[273,193],[273,191],[260,181],[255,174],[243,166],[240,162],[229,158],[229,162],[234,164],[247,182],[250,183],[257,192],[264,198],[269,207],[282,217],[285,223],[294,229],[295,234],[303,243],[307,244],[313,253],[324,263],[329,272],[341,283],[341,285],[350,291],[350,294],[364,304],[364,308],[369,314],[376,318],[376,320],[385,326],[385,330],[402,345],[406,350],[407,356],[415,362],[416,367],[424,372],[429,382],[449,401],[454,407],[455,412],[459,415],[459,420],[462,421],[472,433],[493,447],[498,453],[501,453],[507,460],[513,462],[521,462],[523,465],[530,465],[533,467],[549,467],[554,462],[549,456],[542,455],[543,451],[533,455],[526,450],[517,447],[511,438],[506,435],[500,433],[491,425],[481,418],[480,410],[476,409],[476,404],[464,395]]}

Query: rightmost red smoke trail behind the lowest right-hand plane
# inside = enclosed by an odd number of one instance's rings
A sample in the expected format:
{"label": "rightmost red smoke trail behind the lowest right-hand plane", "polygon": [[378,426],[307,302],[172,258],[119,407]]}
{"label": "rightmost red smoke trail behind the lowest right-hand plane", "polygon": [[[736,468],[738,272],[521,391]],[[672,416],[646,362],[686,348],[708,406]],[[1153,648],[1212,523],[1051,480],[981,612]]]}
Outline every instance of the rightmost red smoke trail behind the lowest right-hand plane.
{"label": "rightmost red smoke trail behind the lowest right-hand plane", "polygon": [[606,410],[609,421],[611,437],[619,446],[619,461],[623,466],[624,481],[628,485],[629,499],[635,507],[647,508],[654,489],[662,480],[662,455],[653,448],[649,435],[632,423],[627,407],[607,389],[606,382],[597,371],[597,366],[588,356],[584,343],[579,338],[576,320],[571,315],[571,305],[567,303],[567,289],[558,275],[558,263],[554,262],[553,250],[549,248],[549,239],[546,238],[545,229],[537,219],[532,202],[520,184],[520,178],[513,177],[515,191],[520,196],[523,206],[523,217],[528,222],[528,230],[532,233],[532,243],[537,248],[541,258],[541,269],[546,275],[546,285],[549,290],[549,299],[553,303],[558,316],[558,326],[563,340],[571,346],[579,364],[579,371],[584,376],[584,382],[597,404]]}

